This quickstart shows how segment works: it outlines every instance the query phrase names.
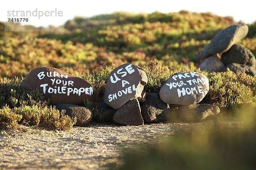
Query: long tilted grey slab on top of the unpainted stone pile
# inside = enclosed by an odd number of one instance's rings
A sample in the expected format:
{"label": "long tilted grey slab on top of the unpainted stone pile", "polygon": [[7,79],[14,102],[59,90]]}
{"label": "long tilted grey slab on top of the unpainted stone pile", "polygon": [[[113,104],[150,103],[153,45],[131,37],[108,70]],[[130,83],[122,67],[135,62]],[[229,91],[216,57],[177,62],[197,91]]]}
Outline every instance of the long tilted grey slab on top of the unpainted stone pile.
{"label": "long tilted grey slab on top of the unpainted stone pile", "polygon": [[213,37],[212,41],[199,54],[200,58],[209,57],[212,54],[224,53],[230,47],[248,34],[248,26],[244,24],[235,24],[220,31]]}

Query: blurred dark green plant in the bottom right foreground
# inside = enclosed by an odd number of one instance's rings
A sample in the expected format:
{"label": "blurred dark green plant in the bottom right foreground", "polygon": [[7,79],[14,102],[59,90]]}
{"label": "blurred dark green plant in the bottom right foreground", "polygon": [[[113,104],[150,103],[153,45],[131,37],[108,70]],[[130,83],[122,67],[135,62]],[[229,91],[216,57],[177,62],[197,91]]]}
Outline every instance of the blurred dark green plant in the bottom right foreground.
{"label": "blurred dark green plant in the bottom right foreground", "polygon": [[[256,109],[240,111],[243,125],[208,124],[180,131],[165,142],[125,150],[121,170],[250,170],[255,169]],[[243,115],[243,116],[241,116]],[[137,148],[137,147],[136,147]]]}

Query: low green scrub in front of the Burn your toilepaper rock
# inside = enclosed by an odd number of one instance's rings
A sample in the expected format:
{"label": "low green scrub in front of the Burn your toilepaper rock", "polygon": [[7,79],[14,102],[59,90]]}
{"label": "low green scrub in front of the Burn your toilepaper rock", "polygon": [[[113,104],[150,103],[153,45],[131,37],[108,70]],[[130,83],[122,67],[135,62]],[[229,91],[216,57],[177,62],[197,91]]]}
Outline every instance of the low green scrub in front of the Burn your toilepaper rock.
{"label": "low green scrub in front of the Burn your toilepaper rock", "polygon": [[64,111],[48,106],[38,91],[20,88],[20,79],[0,78],[0,124],[15,128],[18,124],[68,130],[76,124]]}

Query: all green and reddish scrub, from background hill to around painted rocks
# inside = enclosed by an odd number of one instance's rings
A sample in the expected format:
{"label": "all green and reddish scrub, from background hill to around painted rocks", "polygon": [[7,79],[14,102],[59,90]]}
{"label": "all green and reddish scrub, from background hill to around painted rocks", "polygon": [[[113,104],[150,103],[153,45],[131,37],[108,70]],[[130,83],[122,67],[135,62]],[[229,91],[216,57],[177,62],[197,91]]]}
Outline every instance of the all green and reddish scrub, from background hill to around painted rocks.
{"label": "all green and reddish scrub, from background hill to around painted rocks", "polygon": [[[7,127],[42,125],[58,130],[75,124],[76,120],[50,107],[41,94],[19,88],[22,77],[33,68],[60,68],[90,82],[94,94],[85,101],[85,106],[92,109],[93,119],[100,121],[98,104],[114,67],[125,62],[141,65],[148,75],[145,90],[158,92],[175,72],[196,70],[200,51],[218,31],[233,23],[231,17],[210,13],[116,12],[90,18],[75,17],[65,23],[65,32],[1,31],[1,124]],[[256,23],[248,26],[247,37],[239,43],[256,55]],[[3,30],[3,23],[0,29]],[[245,103],[255,105],[255,77],[232,72],[203,74],[210,82],[204,102],[224,110],[236,109]]]}

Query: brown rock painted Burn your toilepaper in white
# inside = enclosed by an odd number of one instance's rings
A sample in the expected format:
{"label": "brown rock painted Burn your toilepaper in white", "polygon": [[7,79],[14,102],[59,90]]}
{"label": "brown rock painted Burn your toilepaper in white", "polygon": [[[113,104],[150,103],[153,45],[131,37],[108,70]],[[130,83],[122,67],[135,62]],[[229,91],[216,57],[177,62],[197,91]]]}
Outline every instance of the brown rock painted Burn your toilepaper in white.
{"label": "brown rock painted Burn your toilepaper in white", "polygon": [[21,82],[28,91],[38,90],[51,105],[82,105],[93,94],[91,85],[79,77],[51,67],[35,68]]}

